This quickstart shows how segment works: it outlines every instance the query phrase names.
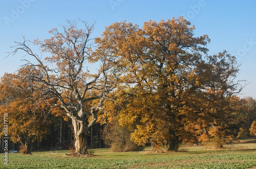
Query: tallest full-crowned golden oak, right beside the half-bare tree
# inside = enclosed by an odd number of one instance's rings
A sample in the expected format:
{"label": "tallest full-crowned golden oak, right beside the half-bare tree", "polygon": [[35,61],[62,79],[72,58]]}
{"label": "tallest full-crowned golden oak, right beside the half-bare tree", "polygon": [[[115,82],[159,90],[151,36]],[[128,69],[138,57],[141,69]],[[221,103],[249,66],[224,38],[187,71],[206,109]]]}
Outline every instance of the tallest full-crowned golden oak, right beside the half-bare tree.
{"label": "tallest full-crowned golden oak, right beside the half-bare tree", "polygon": [[177,150],[183,95],[194,90],[190,79],[209,42],[207,35],[194,37],[189,25],[183,17],[145,22],[143,28],[113,23],[96,39],[125,72],[122,85],[133,96],[119,121],[134,126],[131,135],[137,144],[167,142],[169,150]]}

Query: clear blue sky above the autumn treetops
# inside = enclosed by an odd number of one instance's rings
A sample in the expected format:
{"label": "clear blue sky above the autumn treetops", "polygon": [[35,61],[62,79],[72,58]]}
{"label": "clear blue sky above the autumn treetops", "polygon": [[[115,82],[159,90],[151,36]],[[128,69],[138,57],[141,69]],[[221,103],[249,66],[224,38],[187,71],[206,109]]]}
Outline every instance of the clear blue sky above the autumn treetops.
{"label": "clear blue sky above the autumn treetops", "polygon": [[209,35],[209,54],[227,50],[238,58],[242,65],[237,80],[248,84],[240,96],[256,99],[255,0],[0,0],[0,76],[23,64],[21,54],[6,58],[14,41],[21,42],[21,35],[49,38],[48,31],[65,25],[66,19],[94,19],[97,37],[114,22],[143,25],[181,15],[195,25],[196,36]]}

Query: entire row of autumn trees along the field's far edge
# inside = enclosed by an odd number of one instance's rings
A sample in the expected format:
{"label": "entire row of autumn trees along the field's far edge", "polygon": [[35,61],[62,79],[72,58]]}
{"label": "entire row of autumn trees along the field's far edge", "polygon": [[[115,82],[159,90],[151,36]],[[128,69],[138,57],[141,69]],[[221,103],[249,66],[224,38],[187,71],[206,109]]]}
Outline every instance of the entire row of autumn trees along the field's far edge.
{"label": "entire row of autumn trees along the field's far edge", "polygon": [[63,145],[79,154],[146,144],[177,151],[180,142],[223,148],[255,135],[256,101],[237,96],[245,80],[236,78],[236,57],[209,55],[208,35],[196,37],[189,21],[123,21],[91,38],[94,25],[68,20],[49,39],[12,47],[9,56],[24,54],[25,64],[1,78],[0,113],[25,154]]}

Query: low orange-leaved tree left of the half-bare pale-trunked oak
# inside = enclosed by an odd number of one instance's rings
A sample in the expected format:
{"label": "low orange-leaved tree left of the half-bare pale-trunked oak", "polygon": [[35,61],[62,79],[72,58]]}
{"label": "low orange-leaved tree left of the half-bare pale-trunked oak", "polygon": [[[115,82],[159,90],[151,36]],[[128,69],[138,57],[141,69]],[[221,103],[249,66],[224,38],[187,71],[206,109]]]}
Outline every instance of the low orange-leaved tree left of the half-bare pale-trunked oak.
{"label": "low orange-leaved tree left of the half-bare pale-trunked oak", "polygon": [[0,100],[9,100],[0,106],[0,114],[8,114],[9,138],[14,143],[20,142],[23,154],[31,154],[32,142],[42,140],[51,123],[47,119],[50,107],[41,95],[45,88],[27,78],[32,72],[38,73],[28,67],[17,74],[6,73],[0,83]]}

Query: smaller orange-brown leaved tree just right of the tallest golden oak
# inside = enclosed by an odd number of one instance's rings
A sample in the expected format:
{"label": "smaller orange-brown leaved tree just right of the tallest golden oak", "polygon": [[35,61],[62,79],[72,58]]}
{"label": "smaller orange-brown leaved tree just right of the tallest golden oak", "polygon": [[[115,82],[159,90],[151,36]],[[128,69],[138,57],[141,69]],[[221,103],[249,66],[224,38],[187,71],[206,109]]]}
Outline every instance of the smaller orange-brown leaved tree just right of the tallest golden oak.
{"label": "smaller orange-brown leaved tree just right of the tallest golden oak", "polygon": [[195,71],[198,89],[186,96],[186,126],[192,124],[188,130],[196,131],[199,141],[212,143],[215,148],[223,148],[225,141],[234,137],[230,127],[241,110],[235,94],[244,87],[244,80],[236,80],[238,72],[236,58],[226,51],[207,56]]}

